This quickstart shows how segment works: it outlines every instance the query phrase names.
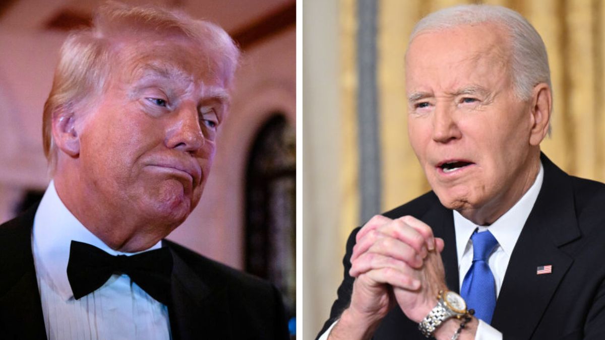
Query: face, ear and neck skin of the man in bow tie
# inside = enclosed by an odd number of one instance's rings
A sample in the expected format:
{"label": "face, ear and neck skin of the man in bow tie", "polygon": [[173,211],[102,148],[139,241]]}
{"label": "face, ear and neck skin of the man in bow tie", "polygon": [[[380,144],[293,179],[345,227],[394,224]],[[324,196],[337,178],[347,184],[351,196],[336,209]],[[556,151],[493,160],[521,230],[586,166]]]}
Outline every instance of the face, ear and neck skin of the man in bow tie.
{"label": "face, ear and neck skin of the man in bow tie", "polygon": [[226,85],[185,39],[117,48],[108,86],[53,116],[65,205],[108,246],[146,249],[200,200],[226,111]]}

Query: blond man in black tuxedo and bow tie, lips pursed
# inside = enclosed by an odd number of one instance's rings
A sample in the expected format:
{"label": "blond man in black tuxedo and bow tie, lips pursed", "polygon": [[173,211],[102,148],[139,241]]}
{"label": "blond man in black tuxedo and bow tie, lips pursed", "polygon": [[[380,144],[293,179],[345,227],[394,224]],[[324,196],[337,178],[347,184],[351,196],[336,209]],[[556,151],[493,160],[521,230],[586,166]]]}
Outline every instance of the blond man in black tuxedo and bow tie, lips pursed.
{"label": "blond man in black tuxedo and bow tie, lips pursed", "polygon": [[217,25],[111,3],[60,52],[53,180],[0,227],[1,339],[286,339],[269,283],[163,240],[195,208],[239,51]]}

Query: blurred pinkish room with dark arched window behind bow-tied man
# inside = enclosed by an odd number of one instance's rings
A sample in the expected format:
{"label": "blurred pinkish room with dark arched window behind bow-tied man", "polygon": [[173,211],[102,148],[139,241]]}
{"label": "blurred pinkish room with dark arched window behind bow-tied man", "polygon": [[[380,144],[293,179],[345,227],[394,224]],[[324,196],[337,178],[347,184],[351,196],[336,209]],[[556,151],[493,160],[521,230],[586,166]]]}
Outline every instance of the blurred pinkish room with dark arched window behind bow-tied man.
{"label": "blurred pinkish room with dark arched window behind bow-tied man", "polygon": [[[68,31],[100,0],[0,1],[0,221],[41,198],[49,178],[42,108]],[[243,50],[231,113],[200,204],[170,236],[272,281],[295,315],[295,0],[122,0],[176,7],[223,27]]]}

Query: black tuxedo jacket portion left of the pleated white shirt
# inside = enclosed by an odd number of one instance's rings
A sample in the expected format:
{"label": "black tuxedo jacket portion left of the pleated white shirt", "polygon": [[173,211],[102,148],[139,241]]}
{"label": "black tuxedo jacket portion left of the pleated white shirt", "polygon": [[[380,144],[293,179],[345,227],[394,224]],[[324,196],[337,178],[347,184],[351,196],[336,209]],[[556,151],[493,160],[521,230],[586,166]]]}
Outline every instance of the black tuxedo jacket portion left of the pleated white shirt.
{"label": "black tuxedo jacket portion left of the pleated white shirt", "polygon": [[46,339],[31,253],[38,204],[0,227],[0,338]]}

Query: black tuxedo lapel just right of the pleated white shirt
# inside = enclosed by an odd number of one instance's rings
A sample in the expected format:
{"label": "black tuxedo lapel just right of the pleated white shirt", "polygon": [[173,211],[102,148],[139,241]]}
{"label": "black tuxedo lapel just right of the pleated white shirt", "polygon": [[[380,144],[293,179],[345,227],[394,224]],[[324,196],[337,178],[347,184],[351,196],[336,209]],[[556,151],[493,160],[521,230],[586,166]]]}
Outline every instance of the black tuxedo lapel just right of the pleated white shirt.
{"label": "black tuxedo lapel just right of the pleated white shirt", "polygon": [[[171,249],[172,250],[172,249]],[[172,306],[169,306],[172,338],[233,339],[226,287],[213,287],[172,250]]]}

